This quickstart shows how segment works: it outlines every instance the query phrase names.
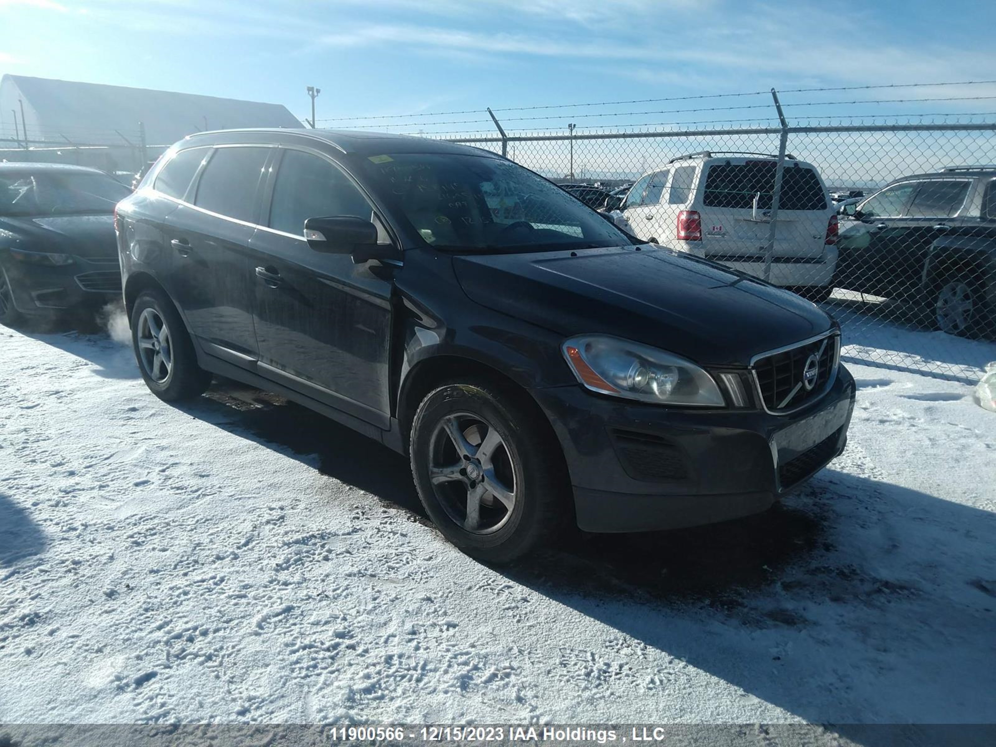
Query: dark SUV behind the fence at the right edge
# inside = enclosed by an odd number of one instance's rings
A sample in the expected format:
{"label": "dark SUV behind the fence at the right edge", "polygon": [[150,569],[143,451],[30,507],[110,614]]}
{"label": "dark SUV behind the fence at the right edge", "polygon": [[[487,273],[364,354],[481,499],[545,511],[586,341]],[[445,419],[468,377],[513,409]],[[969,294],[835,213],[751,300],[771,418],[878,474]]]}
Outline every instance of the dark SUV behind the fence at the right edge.
{"label": "dark SUV behind the fence at the right edge", "polygon": [[835,286],[911,303],[950,335],[996,331],[996,166],[903,176],[840,218]]}

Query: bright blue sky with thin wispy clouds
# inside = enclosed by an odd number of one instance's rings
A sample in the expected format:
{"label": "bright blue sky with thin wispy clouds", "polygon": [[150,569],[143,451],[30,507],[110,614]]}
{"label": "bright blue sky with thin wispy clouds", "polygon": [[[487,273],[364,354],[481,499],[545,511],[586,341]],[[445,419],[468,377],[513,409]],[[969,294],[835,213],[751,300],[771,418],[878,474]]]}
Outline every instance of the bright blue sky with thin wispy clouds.
{"label": "bright blue sky with thin wispy clouds", "polygon": [[[275,102],[299,117],[310,112],[305,87],[315,85],[323,91],[321,120],[772,86],[996,79],[994,26],[996,3],[936,0],[0,0],[0,73]],[[784,98],[792,105],[959,94],[996,96],[996,87]],[[736,105],[724,99],[685,108]],[[990,112],[996,99],[788,111]],[[556,114],[509,128],[563,126],[570,111]],[[753,114],[654,114],[643,120]]]}

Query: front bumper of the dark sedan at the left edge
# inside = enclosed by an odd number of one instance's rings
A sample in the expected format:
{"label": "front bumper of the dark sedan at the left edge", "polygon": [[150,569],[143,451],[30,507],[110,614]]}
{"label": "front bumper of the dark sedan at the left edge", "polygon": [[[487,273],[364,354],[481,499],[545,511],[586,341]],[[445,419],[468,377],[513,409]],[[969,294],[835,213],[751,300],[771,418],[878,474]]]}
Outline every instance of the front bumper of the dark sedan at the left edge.
{"label": "front bumper of the dark sedan at the left edge", "polygon": [[44,314],[102,306],[121,298],[122,275],[117,255],[73,259],[73,264],[60,266],[5,261],[17,310],[22,314]]}

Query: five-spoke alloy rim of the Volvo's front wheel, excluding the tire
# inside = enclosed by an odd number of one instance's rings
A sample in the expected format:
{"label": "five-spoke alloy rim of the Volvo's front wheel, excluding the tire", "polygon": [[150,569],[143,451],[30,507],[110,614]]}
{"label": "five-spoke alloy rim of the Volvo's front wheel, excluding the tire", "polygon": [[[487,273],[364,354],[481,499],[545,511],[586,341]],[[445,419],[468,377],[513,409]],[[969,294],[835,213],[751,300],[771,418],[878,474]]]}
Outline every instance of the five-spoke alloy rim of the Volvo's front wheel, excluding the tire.
{"label": "five-spoke alloy rim of the Volvo's front wheel, excluding the tire", "polygon": [[501,529],[515,508],[515,464],[497,428],[479,414],[443,417],[432,433],[429,480],[446,515],[474,534]]}

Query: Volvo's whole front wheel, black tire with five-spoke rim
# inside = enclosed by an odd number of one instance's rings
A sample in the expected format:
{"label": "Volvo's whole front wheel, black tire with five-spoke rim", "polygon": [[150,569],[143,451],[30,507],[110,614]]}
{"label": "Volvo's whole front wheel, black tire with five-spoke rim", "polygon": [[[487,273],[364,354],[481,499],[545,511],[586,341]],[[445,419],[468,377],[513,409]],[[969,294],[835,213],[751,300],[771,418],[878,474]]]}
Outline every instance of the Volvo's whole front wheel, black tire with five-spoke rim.
{"label": "Volvo's whole front wheel, black tire with five-spoke rim", "polygon": [[411,428],[422,505],[460,550],[507,563],[551,543],[573,514],[564,457],[525,395],[483,379],[430,391]]}

